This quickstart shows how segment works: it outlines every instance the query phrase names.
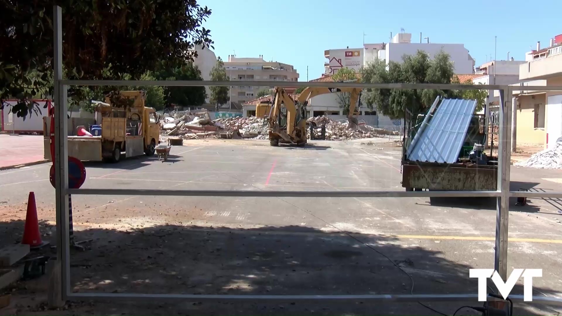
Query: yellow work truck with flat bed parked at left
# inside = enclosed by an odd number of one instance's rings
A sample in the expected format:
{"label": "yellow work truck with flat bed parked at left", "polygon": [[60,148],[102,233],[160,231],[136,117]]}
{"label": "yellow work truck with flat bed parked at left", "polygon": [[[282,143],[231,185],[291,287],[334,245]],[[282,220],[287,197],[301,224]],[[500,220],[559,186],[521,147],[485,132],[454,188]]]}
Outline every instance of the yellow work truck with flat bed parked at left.
{"label": "yellow work truck with flat bed parked at left", "polygon": [[[98,127],[90,129],[88,126],[74,128],[69,124],[68,155],[83,161],[112,161],[121,160],[125,157],[140,155],[152,156],[155,147],[160,140],[160,124],[158,115],[152,107],[146,107],[146,92],[144,91],[122,91],[118,98],[125,101],[125,106],[113,106],[111,100],[106,97],[106,103],[98,103],[96,106],[96,119],[92,125],[101,123],[101,131]],[[44,124],[45,136],[48,124]],[[50,125],[50,124],[49,124]],[[74,124],[73,124],[74,125]],[[78,136],[84,130],[94,132],[97,129],[98,136]],[[101,132],[101,133],[100,133]],[[45,138],[45,157],[51,159],[49,150],[50,139]]]}

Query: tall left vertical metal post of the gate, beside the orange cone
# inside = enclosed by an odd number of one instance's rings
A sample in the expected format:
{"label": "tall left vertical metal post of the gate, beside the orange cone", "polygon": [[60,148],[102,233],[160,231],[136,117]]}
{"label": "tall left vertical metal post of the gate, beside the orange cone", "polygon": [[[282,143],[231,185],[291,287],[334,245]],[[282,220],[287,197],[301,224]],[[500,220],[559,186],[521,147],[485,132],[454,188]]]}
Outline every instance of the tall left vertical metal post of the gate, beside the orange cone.
{"label": "tall left vertical metal post of the gate, beside the orange cone", "polygon": [[[53,7],[53,30],[55,40],[53,58],[55,71],[55,205],[57,218],[57,260],[55,265],[59,284],[53,288],[58,293],[55,297],[65,301],[70,289],[70,255],[69,255],[69,196],[68,152],[67,152],[67,86],[62,80],[62,9]],[[52,280],[53,281],[53,280]]]}

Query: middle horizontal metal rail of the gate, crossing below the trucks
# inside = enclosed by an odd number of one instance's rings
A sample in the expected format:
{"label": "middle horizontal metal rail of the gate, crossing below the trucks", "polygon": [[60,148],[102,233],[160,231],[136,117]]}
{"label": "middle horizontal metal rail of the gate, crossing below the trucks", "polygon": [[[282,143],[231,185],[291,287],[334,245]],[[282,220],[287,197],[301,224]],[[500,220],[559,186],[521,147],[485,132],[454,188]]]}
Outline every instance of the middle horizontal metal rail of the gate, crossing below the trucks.
{"label": "middle horizontal metal rail of the gate, crossing below the trucks", "polygon": [[246,196],[246,197],[498,197],[499,191],[258,191],[166,189],[69,189],[71,195]]}

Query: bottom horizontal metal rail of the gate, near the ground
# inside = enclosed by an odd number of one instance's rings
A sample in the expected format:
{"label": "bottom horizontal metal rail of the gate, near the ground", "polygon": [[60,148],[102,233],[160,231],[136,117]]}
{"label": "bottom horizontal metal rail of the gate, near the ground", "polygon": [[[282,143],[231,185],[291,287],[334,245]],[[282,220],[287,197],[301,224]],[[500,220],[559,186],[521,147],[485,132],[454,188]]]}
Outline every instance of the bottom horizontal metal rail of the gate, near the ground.
{"label": "bottom horizontal metal rail of the gate, near the ground", "polygon": [[[70,293],[69,299],[76,300],[196,300],[196,301],[222,301],[240,302],[244,300],[259,301],[388,301],[416,302],[416,301],[478,301],[477,294],[375,294],[375,295],[195,295],[195,294],[135,294],[135,293]],[[523,295],[510,295],[514,301],[523,301]],[[488,296],[488,300],[497,300]],[[381,302],[382,303],[382,302]],[[558,297],[533,296],[532,303],[562,305]]]}

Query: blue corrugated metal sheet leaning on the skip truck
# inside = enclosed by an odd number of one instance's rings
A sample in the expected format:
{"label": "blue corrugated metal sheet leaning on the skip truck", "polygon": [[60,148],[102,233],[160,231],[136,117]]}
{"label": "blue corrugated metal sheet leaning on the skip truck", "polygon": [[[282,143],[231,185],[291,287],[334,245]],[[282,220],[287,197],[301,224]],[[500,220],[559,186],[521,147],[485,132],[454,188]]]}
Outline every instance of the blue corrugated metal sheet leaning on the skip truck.
{"label": "blue corrugated metal sheet leaning on the skip truck", "polygon": [[475,100],[443,99],[407,159],[455,163],[475,108]]}

